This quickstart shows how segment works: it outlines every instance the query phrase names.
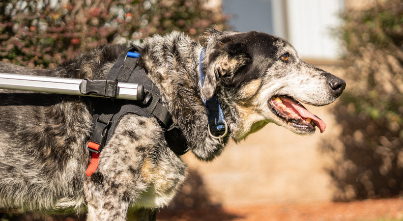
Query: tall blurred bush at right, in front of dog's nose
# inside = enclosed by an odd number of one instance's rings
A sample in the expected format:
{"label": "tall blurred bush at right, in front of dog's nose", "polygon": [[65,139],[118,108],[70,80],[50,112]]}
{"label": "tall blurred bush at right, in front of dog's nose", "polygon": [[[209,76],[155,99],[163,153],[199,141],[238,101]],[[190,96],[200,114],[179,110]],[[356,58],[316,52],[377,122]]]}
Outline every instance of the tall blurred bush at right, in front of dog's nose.
{"label": "tall blurred bush at right, in front of dog's nose", "polygon": [[335,112],[343,145],[323,142],[336,165],[328,168],[335,200],[403,194],[403,2],[342,18],[347,88]]}

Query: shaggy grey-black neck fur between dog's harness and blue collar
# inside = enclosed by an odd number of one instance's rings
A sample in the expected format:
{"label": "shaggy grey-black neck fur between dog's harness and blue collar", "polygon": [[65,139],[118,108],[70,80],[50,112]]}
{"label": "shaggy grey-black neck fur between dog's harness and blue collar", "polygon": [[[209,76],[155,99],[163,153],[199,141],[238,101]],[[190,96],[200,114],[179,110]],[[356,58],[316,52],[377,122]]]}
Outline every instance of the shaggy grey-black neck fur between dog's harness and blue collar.
{"label": "shaggy grey-black neck fur between dog's harness and blue collar", "polygon": [[[202,46],[183,33],[154,36],[142,44],[141,63],[159,87],[163,102],[182,129],[190,150],[202,160],[212,160],[223,150],[218,139],[208,133],[208,114],[201,95],[199,59]],[[217,90],[220,88],[218,87]],[[217,91],[218,97],[220,96]],[[229,104],[221,101],[228,126],[234,125]],[[228,138],[224,138],[224,143]]]}

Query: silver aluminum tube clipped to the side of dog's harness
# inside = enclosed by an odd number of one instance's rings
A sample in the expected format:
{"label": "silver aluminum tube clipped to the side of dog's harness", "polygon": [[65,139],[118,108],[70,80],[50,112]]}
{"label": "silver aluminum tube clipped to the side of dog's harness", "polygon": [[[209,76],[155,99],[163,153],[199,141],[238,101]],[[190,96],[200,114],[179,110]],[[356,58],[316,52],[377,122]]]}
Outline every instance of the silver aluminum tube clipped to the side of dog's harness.
{"label": "silver aluminum tube clipped to the side of dog's harness", "polygon": [[[102,97],[82,94],[80,92],[80,83],[83,81],[85,80],[0,73],[0,89]],[[137,87],[137,83],[118,83],[116,98],[137,100]]]}

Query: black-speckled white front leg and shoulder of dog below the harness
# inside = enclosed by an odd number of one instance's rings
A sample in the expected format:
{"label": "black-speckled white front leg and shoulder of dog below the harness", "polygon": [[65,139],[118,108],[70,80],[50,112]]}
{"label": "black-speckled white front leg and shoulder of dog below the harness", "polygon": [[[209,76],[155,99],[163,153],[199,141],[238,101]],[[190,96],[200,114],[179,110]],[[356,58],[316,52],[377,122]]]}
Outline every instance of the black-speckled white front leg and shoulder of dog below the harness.
{"label": "black-speckled white front leg and shoulder of dog below the harness", "polygon": [[126,220],[131,204],[149,208],[138,211],[138,219],[154,219],[152,209],[173,198],[185,169],[154,118],[124,115],[99,156],[97,170],[86,180],[88,220]]}

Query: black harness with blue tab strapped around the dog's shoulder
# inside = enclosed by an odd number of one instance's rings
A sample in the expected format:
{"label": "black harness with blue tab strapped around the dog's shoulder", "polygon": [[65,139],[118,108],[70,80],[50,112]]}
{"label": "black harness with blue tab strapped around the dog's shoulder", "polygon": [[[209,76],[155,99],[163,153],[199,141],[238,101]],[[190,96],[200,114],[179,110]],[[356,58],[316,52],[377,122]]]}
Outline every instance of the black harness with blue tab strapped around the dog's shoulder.
{"label": "black harness with blue tab strapped around the dog's shoulder", "polygon": [[173,124],[171,114],[162,104],[157,86],[147,76],[147,70],[139,66],[139,52],[138,46],[131,45],[127,53],[117,58],[103,89],[106,94],[111,94],[108,91],[116,90],[114,85],[117,82],[138,83],[143,86],[143,88],[139,87],[138,91],[144,90],[144,94],[138,93],[137,101],[97,99],[92,115],[93,131],[88,141],[88,150],[99,153],[112,138],[119,120],[127,113],[135,113],[139,116],[156,118],[165,130],[168,146],[175,154],[183,155],[189,150],[186,139],[181,130]]}

